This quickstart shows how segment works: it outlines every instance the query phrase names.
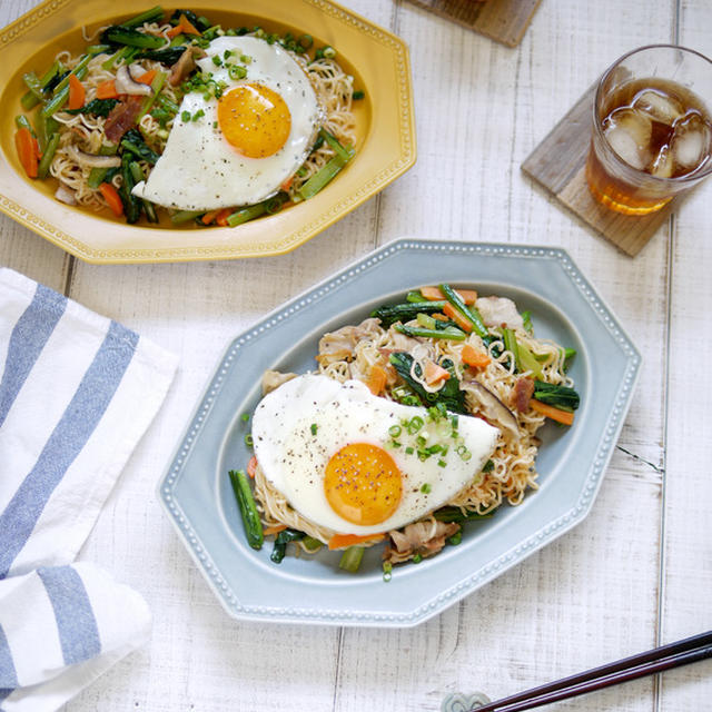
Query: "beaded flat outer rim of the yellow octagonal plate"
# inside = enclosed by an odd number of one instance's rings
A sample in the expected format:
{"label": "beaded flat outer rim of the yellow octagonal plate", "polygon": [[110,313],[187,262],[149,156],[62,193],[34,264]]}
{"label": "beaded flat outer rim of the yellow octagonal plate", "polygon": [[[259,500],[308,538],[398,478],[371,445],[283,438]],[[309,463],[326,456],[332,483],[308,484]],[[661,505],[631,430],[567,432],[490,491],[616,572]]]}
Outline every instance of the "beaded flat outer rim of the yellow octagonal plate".
{"label": "beaded flat outer rim of the yellow octagonal plate", "polygon": [[[44,0],[36,6],[10,24],[0,28],[0,56],[11,50],[13,42],[22,39],[38,23],[49,20],[58,14],[62,9],[77,0]],[[372,20],[354,12],[353,10],[335,2],[334,0],[300,0],[306,6],[310,6],[316,12],[328,16],[334,22],[343,23],[349,28],[355,28],[364,41],[377,41],[388,49],[393,61],[395,99],[389,109],[389,121],[393,125],[388,130],[394,131],[394,152],[388,158],[387,164],[378,164],[375,167],[363,166],[365,175],[358,178],[356,185],[347,194],[340,191],[334,195],[328,201],[324,201],[323,207],[315,207],[304,212],[299,220],[275,221],[269,217],[259,221],[267,222],[266,226],[255,227],[255,224],[246,224],[237,228],[215,227],[201,230],[205,240],[196,241],[196,230],[181,229],[155,229],[146,226],[127,226],[110,220],[105,220],[99,216],[93,216],[90,211],[77,212],[72,210],[69,217],[61,215],[61,206],[48,196],[38,191],[29,181],[24,180],[12,167],[10,157],[0,151],[4,160],[0,161],[0,212],[7,215],[20,225],[32,230],[49,243],[60,247],[68,254],[78,257],[88,264],[103,265],[126,265],[126,264],[160,264],[160,263],[182,263],[182,261],[205,261],[205,260],[233,260],[258,257],[274,257],[286,255],[309,239],[316,237],[335,222],[346,217],[364,202],[384,190],[394,180],[409,170],[417,160],[417,140],[415,127],[414,96],[409,49],[405,40],[390,30],[373,22]],[[147,2],[147,7],[150,2]],[[210,4],[206,0],[202,4]],[[248,9],[235,8],[226,0],[212,0],[215,9],[229,11],[235,14],[248,13]],[[138,11],[139,8],[137,8]],[[206,12],[209,9],[201,7]],[[127,12],[117,12],[117,16]],[[264,17],[269,21],[269,16]],[[279,22],[281,20],[275,20]],[[78,27],[73,26],[72,30]],[[37,51],[37,50],[36,50]],[[22,56],[26,61],[29,55]],[[373,82],[369,85],[373,86]],[[368,135],[364,138],[367,146],[368,140],[373,140],[370,135],[377,130],[375,119],[372,117]],[[366,160],[373,160],[373,156],[363,151],[360,156]],[[358,159],[358,156],[356,157]],[[356,161],[354,162],[354,167]],[[353,167],[352,167],[353,168]],[[313,200],[318,200],[316,196]],[[56,208],[56,212],[50,215],[56,217],[44,217],[44,206]],[[305,204],[306,206],[307,204]],[[314,205],[314,204],[313,204]],[[305,206],[301,206],[303,208]],[[71,219],[80,219],[80,226],[72,228]],[[274,216],[278,218],[278,216]],[[289,227],[294,222],[296,227]],[[86,225],[85,225],[86,224]],[[248,227],[246,227],[248,226]],[[240,233],[229,233],[229,230],[240,230]],[[87,234],[91,230],[111,230],[116,233],[118,247],[101,244],[91,244]],[[127,231],[130,229],[130,233]],[[275,231],[278,238],[270,238]],[[171,245],[162,246],[166,236],[170,238]],[[181,244],[181,237],[191,236],[194,243]],[[207,239],[209,238],[209,239]],[[228,241],[229,240],[229,241]],[[140,243],[138,246],[136,241]],[[127,243],[130,243],[128,245]],[[146,245],[144,245],[144,243]]]}

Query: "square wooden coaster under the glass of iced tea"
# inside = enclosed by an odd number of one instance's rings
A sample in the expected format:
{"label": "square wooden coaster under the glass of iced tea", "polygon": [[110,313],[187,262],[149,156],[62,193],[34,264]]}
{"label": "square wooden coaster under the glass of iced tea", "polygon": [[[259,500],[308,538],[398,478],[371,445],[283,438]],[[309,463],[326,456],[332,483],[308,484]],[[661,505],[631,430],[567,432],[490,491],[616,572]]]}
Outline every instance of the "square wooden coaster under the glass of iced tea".
{"label": "square wooden coaster under the glass of iced tea", "polygon": [[550,190],[566,208],[634,257],[682,202],[673,198],[664,208],[644,216],[622,215],[602,206],[589,191],[584,176],[591,142],[591,87],[551,134],[530,154],[522,170]]}

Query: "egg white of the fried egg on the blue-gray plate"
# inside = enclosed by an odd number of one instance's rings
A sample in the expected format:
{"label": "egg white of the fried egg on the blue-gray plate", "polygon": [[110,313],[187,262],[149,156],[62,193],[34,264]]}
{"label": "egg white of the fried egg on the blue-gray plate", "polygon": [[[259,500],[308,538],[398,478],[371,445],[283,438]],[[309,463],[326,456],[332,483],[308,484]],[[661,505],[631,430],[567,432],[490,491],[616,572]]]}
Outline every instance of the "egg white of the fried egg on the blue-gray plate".
{"label": "egg white of the fried egg on the blue-gray plate", "polygon": [[[482,471],[495,448],[498,431],[481,418],[458,416],[458,433],[472,453],[467,462],[454,448],[446,467],[438,457],[421,462],[405,448],[388,446],[388,428],[425,408],[374,396],[359,380],[340,384],[327,376],[304,375],[267,394],[253,416],[255,456],[265,476],[301,516],[342,534],[374,534],[399,528],[444,505]],[[314,426],[314,427],[313,427]],[[332,510],[324,492],[330,457],[349,443],[370,443],[393,457],[403,475],[396,512],[383,523],[359,526]],[[423,492],[423,485],[429,491]]]}

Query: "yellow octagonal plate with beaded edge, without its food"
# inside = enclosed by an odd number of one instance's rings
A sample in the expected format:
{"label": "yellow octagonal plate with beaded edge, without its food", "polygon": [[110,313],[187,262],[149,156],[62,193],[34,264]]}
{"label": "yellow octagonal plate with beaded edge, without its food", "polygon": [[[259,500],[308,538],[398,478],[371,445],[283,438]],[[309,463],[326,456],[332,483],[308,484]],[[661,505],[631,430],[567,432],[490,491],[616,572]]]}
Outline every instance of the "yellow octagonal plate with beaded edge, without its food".
{"label": "yellow octagonal plate with beaded edge, without its food", "polygon": [[[14,149],[22,75],[42,71],[63,49],[80,52],[88,32],[154,7],[131,2],[117,14],[106,0],[47,0],[0,30],[0,210],[89,263],[136,264],[266,257],[288,253],[373,197],[415,162],[411,65],[395,34],[327,0],[191,0],[188,6],[224,27],[259,24],[270,32],[308,33],[330,44],[365,91],[358,102],[356,156],[314,198],[235,228],[127,225],[106,210],[53,199],[56,181],[24,176]],[[126,6],[125,6],[126,7]],[[174,6],[164,6],[172,10]]]}

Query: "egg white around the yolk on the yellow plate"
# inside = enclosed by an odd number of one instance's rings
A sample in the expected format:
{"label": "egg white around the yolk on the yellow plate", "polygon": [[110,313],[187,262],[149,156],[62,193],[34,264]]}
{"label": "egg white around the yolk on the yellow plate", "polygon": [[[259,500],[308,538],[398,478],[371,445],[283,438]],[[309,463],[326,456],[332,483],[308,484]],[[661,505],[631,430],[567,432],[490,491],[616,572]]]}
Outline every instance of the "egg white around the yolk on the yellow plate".
{"label": "egg white around the yolk on the yellow plate", "polygon": [[[212,57],[222,59],[226,50],[250,58],[247,77],[230,79],[227,68],[216,67]],[[184,97],[174,119],[164,154],[148,179],[136,185],[134,195],[179,210],[216,210],[254,205],[275,195],[281,184],[305,161],[322,121],[322,108],[306,72],[279,44],[254,37],[220,37],[198,61],[204,72],[227,85],[225,92],[256,82],[276,91],[291,115],[286,144],[266,158],[243,156],[220,132],[218,102],[206,101],[202,93]],[[204,116],[184,121],[182,113]]]}

